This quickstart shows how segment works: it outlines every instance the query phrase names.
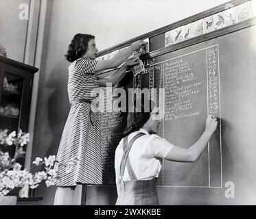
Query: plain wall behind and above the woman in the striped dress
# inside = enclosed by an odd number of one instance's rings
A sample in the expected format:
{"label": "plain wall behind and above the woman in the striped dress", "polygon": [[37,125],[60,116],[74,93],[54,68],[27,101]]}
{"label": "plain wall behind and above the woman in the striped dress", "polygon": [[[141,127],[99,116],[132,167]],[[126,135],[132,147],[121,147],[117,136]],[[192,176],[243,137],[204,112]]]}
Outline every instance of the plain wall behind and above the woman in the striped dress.
{"label": "plain wall behind and above the woman in the striped dress", "polygon": [[[32,160],[56,154],[69,113],[67,67],[63,56],[77,33],[95,35],[101,51],[154,29],[170,25],[226,0],[51,0],[48,3],[45,45],[40,66]],[[41,205],[54,203],[56,188],[36,190]],[[86,205],[114,205],[115,187],[90,186]]]}

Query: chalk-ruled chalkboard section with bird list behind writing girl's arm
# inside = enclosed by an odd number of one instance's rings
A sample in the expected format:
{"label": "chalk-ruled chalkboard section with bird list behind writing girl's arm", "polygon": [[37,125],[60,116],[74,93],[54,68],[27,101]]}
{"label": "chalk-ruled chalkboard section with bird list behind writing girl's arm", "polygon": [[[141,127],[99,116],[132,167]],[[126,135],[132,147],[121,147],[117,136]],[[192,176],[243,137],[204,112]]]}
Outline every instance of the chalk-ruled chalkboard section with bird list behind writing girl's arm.
{"label": "chalk-ruled chalkboard section with bird list behind writing girl's arm", "polygon": [[[208,114],[220,118],[218,53],[216,44],[177,57],[173,53],[159,56],[141,75],[143,88],[150,88],[150,81],[152,88],[164,88],[156,99],[159,105],[163,103],[165,112],[159,136],[172,144],[191,146],[204,130]],[[211,141],[209,150],[195,164],[163,161],[158,184],[221,186],[220,144],[220,139]]]}

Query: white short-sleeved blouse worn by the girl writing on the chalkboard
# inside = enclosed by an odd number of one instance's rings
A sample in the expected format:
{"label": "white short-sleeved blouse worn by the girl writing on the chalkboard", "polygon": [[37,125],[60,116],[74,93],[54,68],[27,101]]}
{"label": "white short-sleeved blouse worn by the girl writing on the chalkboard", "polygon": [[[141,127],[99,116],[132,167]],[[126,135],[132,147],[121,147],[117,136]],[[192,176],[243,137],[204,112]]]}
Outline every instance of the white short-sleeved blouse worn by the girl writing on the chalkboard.
{"label": "white short-sleeved blouse worn by the girl writing on the chalkboard", "polygon": [[[174,145],[164,138],[150,135],[145,129],[130,133],[128,143],[138,133],[145,133],[145,136],[141,136],[132,144],[129,153],[130,164],[138,180],[150,180],[158,177],[161,170],[161,162],[157,158],[165,158]],[[123,142],[124,138],[119,142],[115,151],[115,174],[118,178],[120,177],[121,158],[124,154]],[[129,180],[128,170],[125,168],[123,181]]]}

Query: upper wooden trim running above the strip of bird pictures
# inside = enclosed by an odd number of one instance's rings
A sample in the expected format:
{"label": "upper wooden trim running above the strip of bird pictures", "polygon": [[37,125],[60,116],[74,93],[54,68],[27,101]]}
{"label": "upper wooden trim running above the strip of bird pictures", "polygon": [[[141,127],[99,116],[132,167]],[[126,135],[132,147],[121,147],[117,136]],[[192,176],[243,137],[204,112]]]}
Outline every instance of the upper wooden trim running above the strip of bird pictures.
{"label": "upper wooden trim running above the strip of bird pictures", "polygon": [[154,31],[150,31],[148,32],[147,34],[143,34],[141,36],[137,36],[135,38],[132,38],[130,40],[127,40],[125,42],[121,42],[113,47],[110,47],[108,49],[104,49],[103,51],[100,51],[98,54],[97,54],[97,57],[100,57],[102,55],[105,55],[105,54],[108,54],[110,52],[113,52],[113,51],[116,51],[117,49],[121,49],[123,47],[128,47],[130,44],[132,44],[132,42],[135,42],[137,40],[144,40],[146,38],[151,38],[153,36],[157,36],[159,34],[163,34],[167,31],[170,31],[172,29],[175,29],[176,27],[181,27],[183,25],[187,25],[189,23],[193,23],[194,21],[198,21],[202,18],[205,18],[207,16],[211,16],[213,14],[217,14],[218,12],[222,12],[223,10],[226,10],[226,5],[233,5],[233,6],[236,6],[236,5],[240,5],[244,2],[246,2],[248,0],[233,0],[233,1],[228,1],[226,3],[223,3],[222,5],[218,5],[214,8],[211,8],[209,10],[206,10],[204,12],[200,12],[198,14],[195,14],[193,16],[189,16],[188,18],[184,18],[183,20],[181,21],[177,21],[176,23],[172,23],[170,25],[167,25],[165,27],[161,27],[159,29],[156,29]]}

